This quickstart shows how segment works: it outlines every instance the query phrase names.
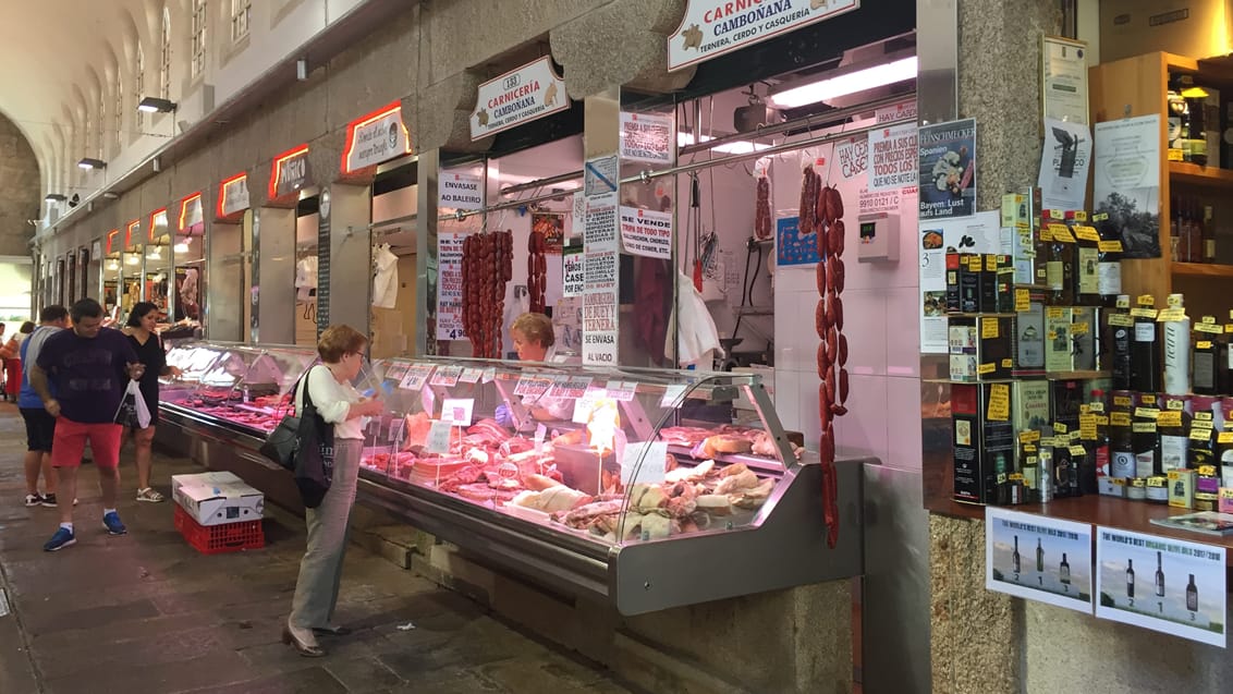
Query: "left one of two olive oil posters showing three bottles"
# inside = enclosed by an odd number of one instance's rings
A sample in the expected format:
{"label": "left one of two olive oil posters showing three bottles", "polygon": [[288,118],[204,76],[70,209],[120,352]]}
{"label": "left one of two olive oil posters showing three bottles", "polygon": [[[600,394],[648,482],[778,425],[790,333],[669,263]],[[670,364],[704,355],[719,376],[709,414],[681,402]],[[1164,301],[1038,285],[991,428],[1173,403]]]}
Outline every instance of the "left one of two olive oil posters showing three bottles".
{"label": "left one of two olive oil posters showing three bottles", "polygon": [[1091,525],[985,507],[985,588],[1091,614]]}

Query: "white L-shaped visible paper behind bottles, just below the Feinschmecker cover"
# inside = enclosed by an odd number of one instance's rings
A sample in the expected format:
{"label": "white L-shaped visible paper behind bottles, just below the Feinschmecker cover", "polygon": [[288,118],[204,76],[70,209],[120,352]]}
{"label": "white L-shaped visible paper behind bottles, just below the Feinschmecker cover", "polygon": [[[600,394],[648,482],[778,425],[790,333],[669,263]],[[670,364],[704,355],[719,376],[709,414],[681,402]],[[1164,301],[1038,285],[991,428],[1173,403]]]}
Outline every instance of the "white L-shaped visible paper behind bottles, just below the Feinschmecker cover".
{"label": "white L-shaped visible paper behind bottles, just below the Feinschmecker cover", "polygon": [[921,353],[947,354],[946,253],[1002,253],[999,211],[978,212],[963,219],[921,221],[919,234],[921,279]]}

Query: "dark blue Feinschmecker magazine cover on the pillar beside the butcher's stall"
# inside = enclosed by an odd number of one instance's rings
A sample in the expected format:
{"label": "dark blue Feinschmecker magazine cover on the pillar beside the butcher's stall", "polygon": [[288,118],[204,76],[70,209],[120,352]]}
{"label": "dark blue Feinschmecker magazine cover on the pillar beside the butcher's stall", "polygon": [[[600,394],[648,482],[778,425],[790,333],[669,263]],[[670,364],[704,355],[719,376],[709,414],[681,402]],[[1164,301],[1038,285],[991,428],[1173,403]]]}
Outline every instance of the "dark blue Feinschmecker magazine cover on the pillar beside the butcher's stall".
{"label": "dark blue Feinschmecker magazine cover on the pillar beside the butcher's stall", "polygon": [[917,133],[920,221],[969,217],[977,210],[977,121],[936,123]]}

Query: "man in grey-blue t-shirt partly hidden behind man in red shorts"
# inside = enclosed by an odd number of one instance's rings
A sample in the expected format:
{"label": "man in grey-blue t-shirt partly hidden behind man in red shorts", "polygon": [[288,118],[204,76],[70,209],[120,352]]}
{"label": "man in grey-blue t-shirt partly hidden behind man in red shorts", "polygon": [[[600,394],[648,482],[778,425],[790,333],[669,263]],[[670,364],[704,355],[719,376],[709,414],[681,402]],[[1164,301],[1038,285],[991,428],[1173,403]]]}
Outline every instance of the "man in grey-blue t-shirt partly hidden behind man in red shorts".
{"label": "man in grey-blue t-shirt partly hidden behind man in red shorts", "polygon": [[[21,391],[17,409],[26,422],[26,505],[55,507],[55,470],[52,468],[52,439],[55,418],[43,408],[43,401],[30,386],[30,367],[38,359],[47,338],[69,327],[69,311],[48,306],[38,312],[38,327],[21,343]],[[53,392],[54,394],[54,392]],[[43,492],[38,493],[38,472],[43,472]]]}

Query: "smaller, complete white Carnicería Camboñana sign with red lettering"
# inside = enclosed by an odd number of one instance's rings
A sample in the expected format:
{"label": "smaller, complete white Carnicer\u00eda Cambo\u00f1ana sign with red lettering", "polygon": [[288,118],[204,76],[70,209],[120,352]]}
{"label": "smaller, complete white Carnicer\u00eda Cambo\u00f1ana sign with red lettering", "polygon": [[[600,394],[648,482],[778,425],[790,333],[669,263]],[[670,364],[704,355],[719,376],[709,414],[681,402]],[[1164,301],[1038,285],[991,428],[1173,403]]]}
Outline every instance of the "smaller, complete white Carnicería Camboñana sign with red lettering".
{"label": "smaller, complete white Carnicer\u00eda Cambo\u00f1ana sign with red lettering", "polygon": [[471,113],[471,139],[482,139],[544,116],[565,111],[565,80],[545,55],[480,85]]}

